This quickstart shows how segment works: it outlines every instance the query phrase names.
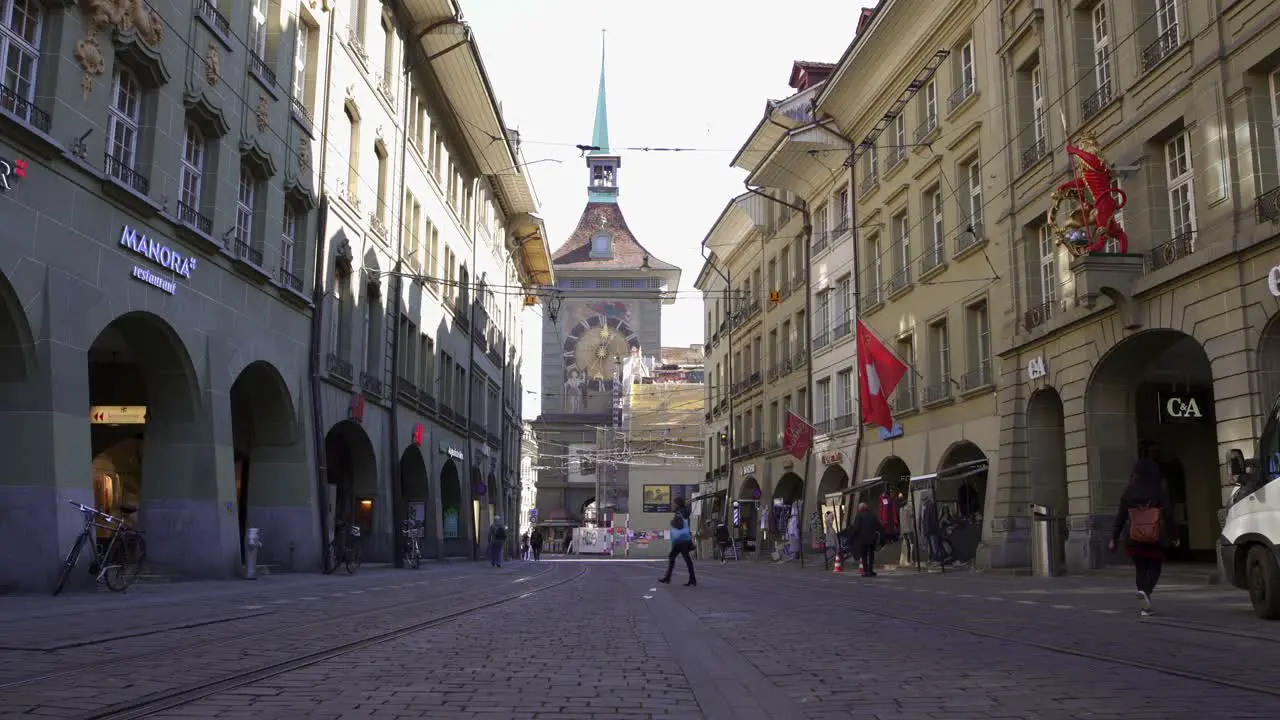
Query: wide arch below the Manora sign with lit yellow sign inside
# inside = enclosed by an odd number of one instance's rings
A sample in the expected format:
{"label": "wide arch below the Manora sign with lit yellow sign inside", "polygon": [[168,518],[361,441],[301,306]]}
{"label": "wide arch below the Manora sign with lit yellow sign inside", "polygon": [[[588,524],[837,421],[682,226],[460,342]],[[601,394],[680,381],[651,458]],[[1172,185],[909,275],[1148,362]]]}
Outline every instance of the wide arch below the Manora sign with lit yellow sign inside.
{"label": "wide arch below the Manora sign with lit yellow sign inside", "polygon": [[95,505],[137,511],[152,569],[227,573],[234,516],[219,512],[212,432],[178,333],[150,313],[113,320],[88,350],[88,395]]}

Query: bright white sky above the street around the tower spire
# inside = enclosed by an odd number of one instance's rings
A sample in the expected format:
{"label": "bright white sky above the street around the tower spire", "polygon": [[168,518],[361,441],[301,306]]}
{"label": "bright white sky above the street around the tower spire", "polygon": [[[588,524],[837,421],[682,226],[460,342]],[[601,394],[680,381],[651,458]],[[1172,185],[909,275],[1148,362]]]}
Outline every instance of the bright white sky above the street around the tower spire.
{"label": "bright white sky above the street around the tower spire", "polygon": [[[682,270],[680,299],[663,309],[663,345],[701,343],[703,302],[694,292],[700,245],[746,177],[730,160],[760,122],[765,100],[791,95],[792,61],[837,61],[861,6],[874,3],[794,0],[786,12],[760,0],[461,3],[503,117],[520,131],[552,251],[586,204],[586,165],[573,145],[591,142],[602,29],[609,143],[696,149],[621,150],[618,186],[640,243]],[[535,418],[541,320],[525,313],[524,415]]]}

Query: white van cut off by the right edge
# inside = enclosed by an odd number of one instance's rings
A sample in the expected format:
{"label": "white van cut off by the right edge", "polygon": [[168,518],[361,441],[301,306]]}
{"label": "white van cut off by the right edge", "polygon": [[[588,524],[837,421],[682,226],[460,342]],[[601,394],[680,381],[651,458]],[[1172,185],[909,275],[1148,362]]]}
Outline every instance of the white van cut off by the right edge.
{"label": "white van cut off by the right edge", "polygon": [[1245,460],[1239,450],[1228,452],[1236,484],[1226,509],[1219,557],[1233,585],[1249,591],[1253,612],[1265,620],[1280,619],[1280,398],[1267,414],[1258,452]]}

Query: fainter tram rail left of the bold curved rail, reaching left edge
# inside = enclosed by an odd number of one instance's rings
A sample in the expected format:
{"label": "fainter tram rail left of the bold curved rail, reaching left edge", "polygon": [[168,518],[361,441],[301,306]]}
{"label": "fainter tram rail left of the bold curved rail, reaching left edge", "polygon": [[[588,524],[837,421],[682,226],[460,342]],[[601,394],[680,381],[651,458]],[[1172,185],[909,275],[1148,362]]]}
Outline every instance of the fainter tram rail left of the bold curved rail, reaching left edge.
{"label": "fainter tram rail left of the bold curved rail, reaching left edge", "polygon": [[[553,571],[554,571],[554,568],[548,568],[548,569],[541,570],[539,573],[535,573],[532,575],[524,577],[525,578],[524,582],[536,580],[536,579],[543,578],[543,577],[545,577],[545,575],[548,575],[548,574],[550,574]],[[451,575],[448,578],[439,578],[439,580],[445,580],[445,579],[472,580],[472,579],[492,579],[492,578],[493,578],[492,575],[485,575],[485,574],[467,574],[467,575]],[[517,578],[517,580],[513,580],[513,582],[520,582],[520,578]],[[105,659],[105,660],[95,660],[92,662],[81,664],[81,665],[77,665],[77,666],[70,667],[70,669],[58,670],[55,673],[45,673],[45,674],[41,674],[41,675],[32,675],[32,676],[28,676],[28,678],[20,678],[20,679],[17,679],[17,680],[9,680],[9,682],[0,683],[0,702],[8,702],[9,701],[9,698],[5,696],[6,691],[12,692],[14,689],[24,688],[24,687],[28,687],[28,685],[37,685],[40,683],[50,683],[50,682],[59,680],[59,679],[63,679],[63,678],[69,678],[69,676],[95,676],[97,674],[95,671],[101,671],[101,670],[108,669],[108,667],[110,667],[111,670],[116,670],[120,666],[127,666],[129,664],[140,664],[140,662],[146,662],[146,661],[154,661],[154,660],[159,660],[159,659],[166,657],[166,656],[186,655],[186,653],[189,653],[193,650],[210,648],[210,647],[218,647],[218,646],[236,646],[236,644],[242,644],[243,646],[248,641],[255,641],[255,639],[261,639],[261,638],[270,638],[270,637],[284,637],[284,638],[287,638],[289,635],[297,635],[300,633],[303,633],[303,632],[306,632],[310,628],[319,628],[319,626],[332,625],[335,620],[342,620],[343,623],[349,623],[352,620],[358,620],[361,618],[374,618],[374,616],[384,615],[384,614],[397,614],[399,611],[403,611],[406,607],[415,607],[415,606],[421,606],[421,605],[425,605],[425,603],[447,602],[447,601],[456,600],[456,598],[465,597],[465,596],[492,592],[493,589],[495,589],[495,588],[493,588],[493,587],[466,588],[466,589],[458,589],[456,592],[447,592],[444,594],[431,594],[431,596],[428,596],[428,597],[415,597],[412,600],[404,600],[404,601],[393,602],[393,603],[389,603],[389,605],[379,605],[379,606],[366,607],[366,609],[361,609],[361,610],[344,611],[344,612],[340,614],[340,616],[335,616],[334,614],[326,614],[326,615],[323,615],[323,616],[316,618],[316,619],[305,620],[302,623],[292,623],[292,624],[287,624],[287,625],[273,625],[270,628],[257,629],[257,630],[248,632],[248,633],[239,633],[239,634],[229,634],[229,635],[221,635],[221,637],[212,637],[212,638],[209,638],[209,639],[202,639],[202,641],[198,641],[198,642],[195,642],[195,643],[188,643],[188,644],[175,644],[173,647],[165,647],[165,648],[161,648],[161,650],[147,650],[147,651],[137,652],[137,653],[132,653],[132,655],[124,655],[124,656],[118,656],[118,657],[109,657],[109,659]],[[248,619],[248,620],[256,620],[256,619],[260,619],[260,618],[269,618],[269,616],[276,616],[276,612],[273,611],[273,612],[265,612],[265,614],[248,615],[248,616],[246,616],[246,619]],[[188,629],[191,629],[191,628],[177,628],[177,629],[170,629],[170,630],[163,630],[163,632],[159,632],[159,633],[147,633],[147,634],[142,634],[142,635],[138,635],[138,637],[150,638],[154,634],[164,634],[164,633],[169,633],[169,632],[179,633],[179,632],[188,630]],[[100,644],[119,643],[122,641],[127,642],[129,639],[134,639],[134,637],[131,635],[131,637],[120,638],[120,639],[104,641],[104,643],[100,643]]]}

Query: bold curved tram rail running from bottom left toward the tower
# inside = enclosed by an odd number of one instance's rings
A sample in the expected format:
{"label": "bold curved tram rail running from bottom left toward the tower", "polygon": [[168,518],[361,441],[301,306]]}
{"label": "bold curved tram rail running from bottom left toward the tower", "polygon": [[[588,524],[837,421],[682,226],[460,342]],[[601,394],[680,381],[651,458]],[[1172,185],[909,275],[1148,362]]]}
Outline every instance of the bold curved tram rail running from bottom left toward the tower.
{"label": "bold curved tram rail running from bottom left toward the tower", "polygon": [[[547,570],[544,573],[540,573],[536,577],[540,578],[543,575],[548,575],[548,574],[556,573],[556,570],[557,570],[556,568],[552,568],[552,569],[549,569],[549,570]],[[381,632],[381,633],[375,633],[375,634],[366,635],[364,638],[358,638],[358,639],[355,639],[355,641],[351,641],[351,642],[346,642],[346,643],[340,643],[340,644],[332,646],[332,647],[328,647],[328,648],[323,648],[323,650],[317,650],[317,651],[312,651],[312,652],[297,655],[297,656],[293,656],[293,657],[289,657],[289,659],[285,659],[285,660],[280,660],[280,661],[276,661],[276,662],[270,662],[270,664],[266,664],[266,665],[252,667],[252,669],[244,670],[242,673],[234,673],[234,674],[224,675],[224,676],[221,676],[219,679],[215,679],[215,680],[202,682],[202,683],[193,683],[193,684],[189,684],[189,685],[186,685],[186,687],[180,687],[180,688],[177,688],[177,689],[173,689],[173,691],[164,691],[164,692],[159,692],[159,693],[152,693],[152,694],[143,696],[143,697],[140,697],[140,698],[136,698],[136,700],[131,700],[131,701],[127,701],[127,702],[111,705],[111,706],[108,706],[108,707],[104,707],[104,708],[95,710],[92,712],[81,715],[79,720],[127,720],[127,719],[134,719],[134,717],[148,717],[148,716],[156,715],[159,712],[165,712],[165,711],[169,711],[169,710],[174,710],[174,708],[178,708],[178,707],[182,707],[182,706],[186,706],[186,705],[191,705],[191,703],[198,702],[201,700],[205,700],[207,697],[211,697],[211,696],[215,696],[215,694],[219,694],[219,693],[224,693],[224,692],[228,692],[228,691],[233,691],[233,689],[243,688],[243,687],[247,687],[247,685],[252,685],[255,683],[259,683],[259,682],[262,682],[262,680],[266,680],[266,679],[270,679],[270,678],[275,678],[275,676],[279,676],[279,675],[284,675],[284,674],[288,674],[288,673],[293,673],[293,671],[297,671],[297,670],[302,670],[302,669],[310,667],[312,665],[319,665],[321,662],[326,662],[329,660],[334,660],[334,659],[344,656],[344,655],[349,655],[352,652],[358,652],[361,650],[366,650],[366,648],[370,648],[370,647],[384,644],[384,643],[388,643],[388,642],[403,638],[406,635],[411,635],[413,633],[419,633],[419,632],[428,630],[428,629],[431,629],[431,628],[436,628],[436,626],[440,626],[440,625],[447,625],[447,624],[449,624],[452,621],[456,621],[456,620],[460,620],[462,618],[467,618],[470,615],[475,615],[476,612],[480,612],[480,611],[484,611],[484,610],[489,610],[489,609],[493,609],[493,607],[499,607],[502,605],[516,602],[518,600],[524,600],[526,597],[530,597],[530,596],[534,596],[534,594],[538,594],[538,593],[543,593],[543,592],[558,588],[561,585],[566,585],[568,583],[572,583],[572,582],[582,578],[584,575],[588,574],[588,571],[589,571],[589,568],[581,568],[581,569],[576,570],[573,574],[571,574],[568,577],[557,578],[554,580],[550,580],[550,582],[544,583],[544,584],[538,585],[538,587],[529,587],[529,585],[524,585],[522,584],[520,587],[520,592],[508,593],[508,594],[506,594],[503,597],[499,597],[497,600],[492,600],[492,601],[486,601],[486,602],[480,602],[477,605],[471,605],[471,606],[468,606],[466,609],[462,609],[462,610],[456,610],[456,611],[452,611],[452,612],[445,612],[443,615],[438,615],[438,616],[434,616],[434,618],[430,618],[430,619],[426,619],[426,620],[421,620],[421,621],[417,621],[417,623],[411,623],[408,625],[403,625],[401,628],[396,628],[396,629],[392,629],[392,630],[385,630],[385,632]]]}

